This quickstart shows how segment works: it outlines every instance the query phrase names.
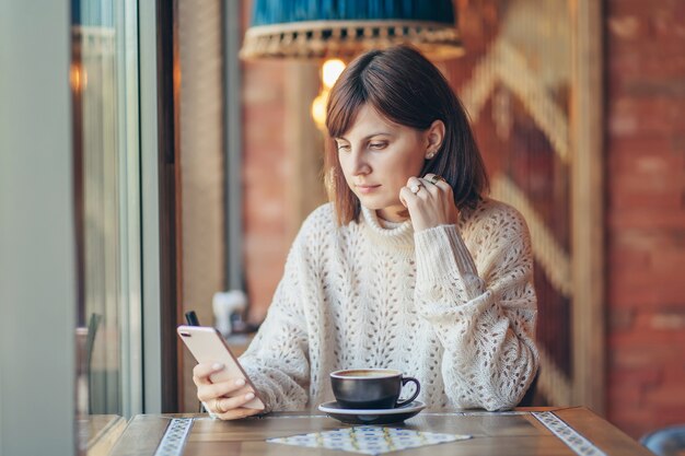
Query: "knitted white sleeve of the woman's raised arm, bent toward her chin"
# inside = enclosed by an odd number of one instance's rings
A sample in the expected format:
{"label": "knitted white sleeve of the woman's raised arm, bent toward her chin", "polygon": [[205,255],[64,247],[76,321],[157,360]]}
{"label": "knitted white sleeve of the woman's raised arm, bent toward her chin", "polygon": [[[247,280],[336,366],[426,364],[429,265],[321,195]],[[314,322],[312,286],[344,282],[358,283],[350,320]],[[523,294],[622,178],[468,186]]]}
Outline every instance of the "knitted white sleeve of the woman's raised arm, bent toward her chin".
{"label": "knitted white sleeve of the woman's raised arm, bent toward her chin", "polygon": [[442,376],[454,406],[515,407],[537,372],[537,314],[527,226],[498,204],[468,226],[415,233],[419,314],[444,348]]}

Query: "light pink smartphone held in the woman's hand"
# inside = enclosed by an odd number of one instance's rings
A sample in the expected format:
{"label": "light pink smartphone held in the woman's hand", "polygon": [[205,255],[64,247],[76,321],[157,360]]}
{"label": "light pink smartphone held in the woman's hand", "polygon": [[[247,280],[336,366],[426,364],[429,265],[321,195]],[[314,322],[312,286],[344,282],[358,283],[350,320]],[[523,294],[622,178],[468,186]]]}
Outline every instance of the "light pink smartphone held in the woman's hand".
{"label": "light pink smartphone held in the woman's hand", "polygon": [[229,378],[243,378],[245,386],[241,393],[253,391],[255,398],[246,402],[243,407],[248,409],[264,410],[264,401],[259,397],[257,388],[243,371],[237,359],[231,353],[229,346],[217,328],[205,326],[179,326],[176,329],[178,337],[186,344],[198,363],[221,363],[223,370],[211,374],[212,383],[223,382]]}

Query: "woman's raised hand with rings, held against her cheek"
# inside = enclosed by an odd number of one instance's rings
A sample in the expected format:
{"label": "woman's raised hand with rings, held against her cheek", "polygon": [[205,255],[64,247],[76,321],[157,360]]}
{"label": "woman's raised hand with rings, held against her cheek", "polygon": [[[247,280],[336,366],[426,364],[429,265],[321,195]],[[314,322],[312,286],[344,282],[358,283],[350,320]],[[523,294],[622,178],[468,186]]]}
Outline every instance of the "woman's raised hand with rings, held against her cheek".
{"label": "woman's raised hand with rings, held against her cheek", "polygon": [[454,204],[452,187],[434,174],[422,178],[409,177],[399,190],[399,200],[409,210],[414,231],[456,224],[458,209]]}

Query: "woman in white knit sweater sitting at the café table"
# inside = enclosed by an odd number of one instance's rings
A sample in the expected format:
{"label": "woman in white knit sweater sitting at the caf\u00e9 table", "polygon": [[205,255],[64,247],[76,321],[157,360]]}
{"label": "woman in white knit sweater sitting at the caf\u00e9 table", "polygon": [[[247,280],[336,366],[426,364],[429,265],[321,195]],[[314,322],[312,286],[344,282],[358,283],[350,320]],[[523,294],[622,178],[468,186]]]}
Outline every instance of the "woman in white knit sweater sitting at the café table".
{"label": "woman in white knit sweater sitting at the caf\u00e9 table", "polygon": [[[417,377],[428,407],[509,409],[537,371],[533,256],[521,214],[488,199],[467,116],[440,71],[399,46],[357,58],[330,92],[332,202],[303,223],[268,315],[241,358],[266,411],[332,400],[328,374]],[[259,412],[241,382],[198,397]]]}

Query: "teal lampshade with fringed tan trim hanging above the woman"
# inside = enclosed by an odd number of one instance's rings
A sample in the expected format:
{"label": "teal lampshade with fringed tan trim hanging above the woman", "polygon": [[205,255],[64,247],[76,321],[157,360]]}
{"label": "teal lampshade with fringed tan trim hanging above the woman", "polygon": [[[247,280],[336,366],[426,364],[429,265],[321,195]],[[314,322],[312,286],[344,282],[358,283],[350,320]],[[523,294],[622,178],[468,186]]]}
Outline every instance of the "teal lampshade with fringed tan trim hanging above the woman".
{"label": "teal lampshade with fringed tan trim hanging above the woman", "polygon": [[241,57],[350,58],[400,43],[462,55],[452,0],[254,0]]}

